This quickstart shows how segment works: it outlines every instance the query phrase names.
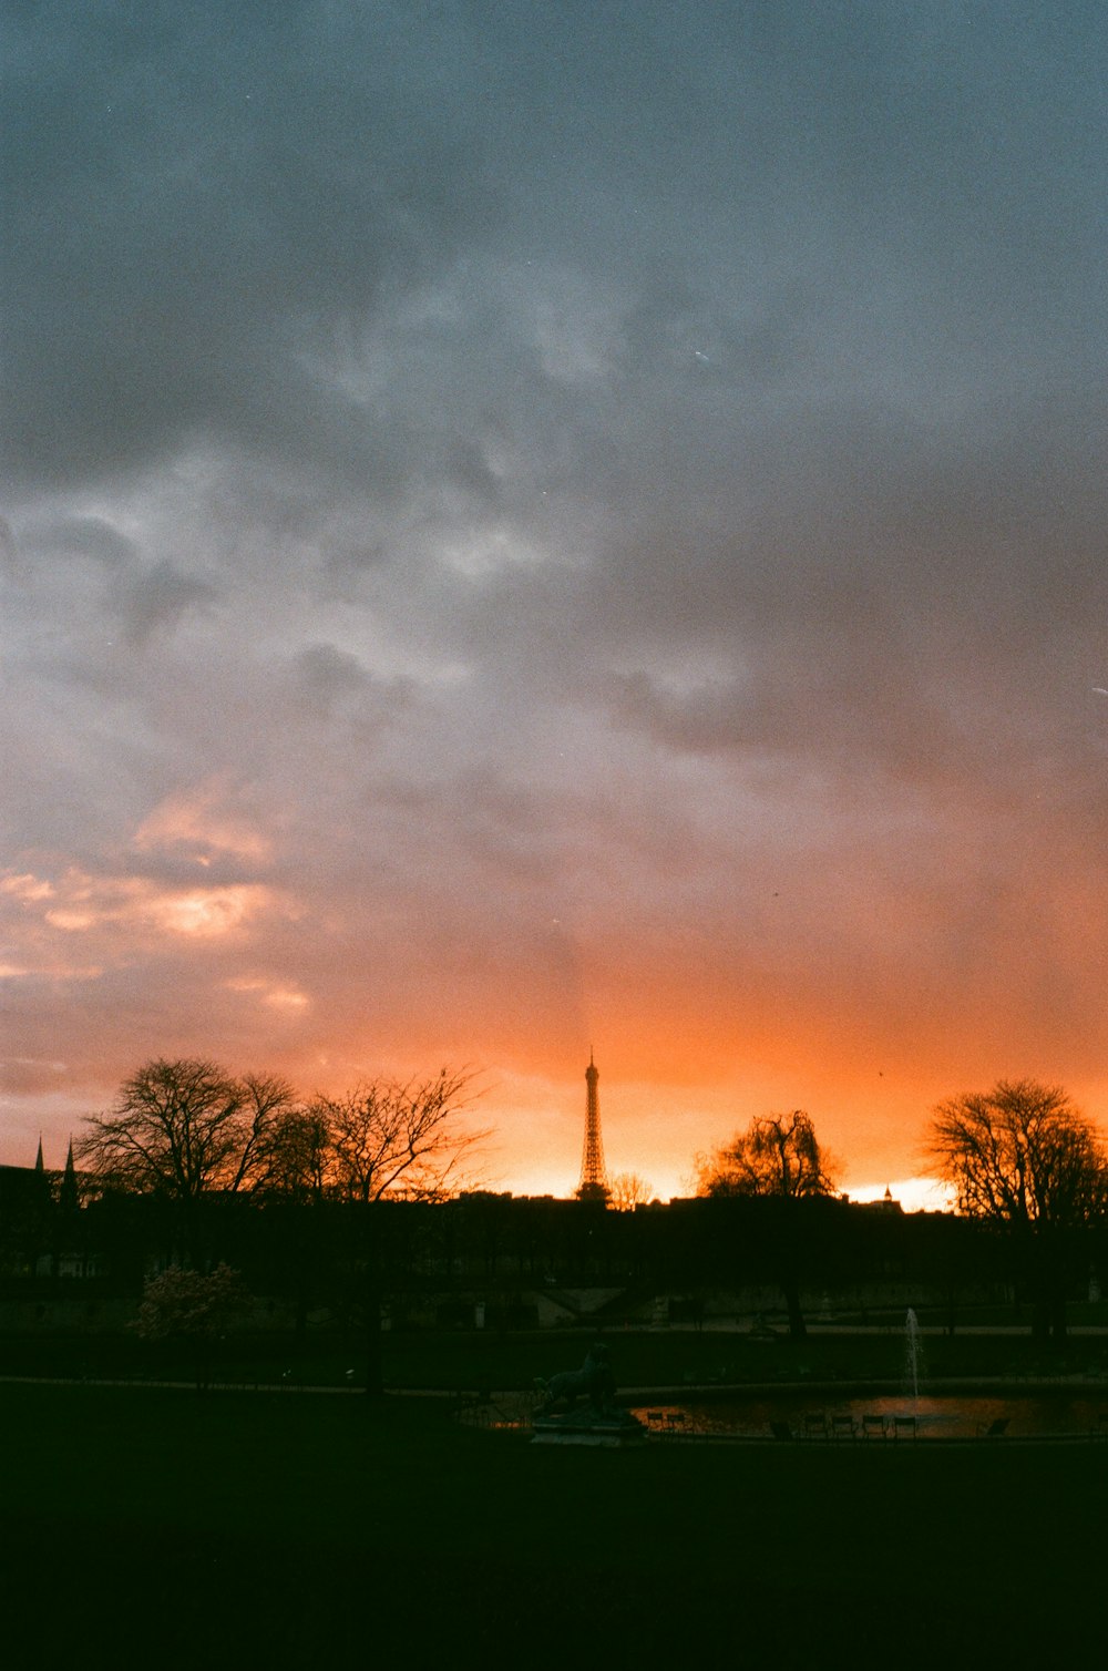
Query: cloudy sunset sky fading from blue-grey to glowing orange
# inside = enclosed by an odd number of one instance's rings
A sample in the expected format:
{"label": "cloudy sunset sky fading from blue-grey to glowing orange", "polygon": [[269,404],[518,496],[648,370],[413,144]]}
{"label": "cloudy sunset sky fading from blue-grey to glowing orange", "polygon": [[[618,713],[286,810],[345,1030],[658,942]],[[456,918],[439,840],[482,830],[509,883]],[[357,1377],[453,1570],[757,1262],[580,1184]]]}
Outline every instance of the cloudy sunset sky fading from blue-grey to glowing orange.
{"label": "cloudy sunset sky fading from blue-grey to glowing orange", "polygon": [[13,3],[0,1161],[470,1068],[485,1181],[1108,1120],[1108,20]]}

